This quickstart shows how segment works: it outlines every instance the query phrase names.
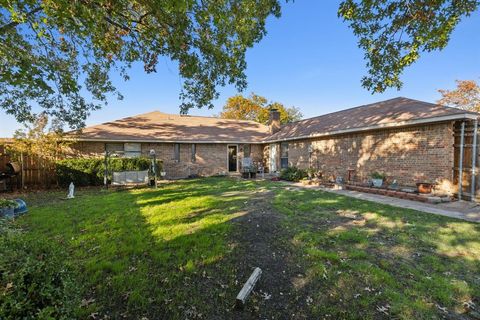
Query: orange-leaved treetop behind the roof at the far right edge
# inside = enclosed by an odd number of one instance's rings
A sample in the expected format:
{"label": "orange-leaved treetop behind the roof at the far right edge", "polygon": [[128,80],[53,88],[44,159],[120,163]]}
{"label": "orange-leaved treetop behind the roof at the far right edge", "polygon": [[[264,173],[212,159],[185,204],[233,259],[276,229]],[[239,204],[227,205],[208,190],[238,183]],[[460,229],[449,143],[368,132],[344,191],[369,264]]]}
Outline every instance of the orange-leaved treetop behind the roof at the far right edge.
{"label": "orange-leaved treetop behind the roof at the far right edge", "polygon": [[480,112],[480,86],[474,80],[457,80],[457,88],[438,91],[442,95],[439,104]]}

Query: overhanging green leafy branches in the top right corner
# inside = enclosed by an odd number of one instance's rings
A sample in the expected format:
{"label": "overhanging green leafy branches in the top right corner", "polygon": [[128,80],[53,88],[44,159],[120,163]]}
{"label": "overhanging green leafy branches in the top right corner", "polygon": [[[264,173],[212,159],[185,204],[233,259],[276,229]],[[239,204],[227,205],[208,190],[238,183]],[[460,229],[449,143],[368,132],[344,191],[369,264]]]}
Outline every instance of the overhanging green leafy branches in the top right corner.
{"label": "overhanging green leafy branches in the top right corner", "polygon": [[460,20],[474,12],[478,0],[345,0],[338,15],[358,37],[371,92],[401,88],[403,70],[421,52],[445,48]]}

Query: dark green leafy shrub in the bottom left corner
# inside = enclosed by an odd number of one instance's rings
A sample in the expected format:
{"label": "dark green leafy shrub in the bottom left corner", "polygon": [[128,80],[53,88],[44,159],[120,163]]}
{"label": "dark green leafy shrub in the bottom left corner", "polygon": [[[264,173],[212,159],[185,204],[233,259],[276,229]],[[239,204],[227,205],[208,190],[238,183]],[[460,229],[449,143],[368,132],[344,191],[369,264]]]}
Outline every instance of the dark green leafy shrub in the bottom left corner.
{"label": "dark green leafy shrub in the bottom left corner", "polygon": [[74,319],[80,286],[62,246],[0,220],[0,319]]}

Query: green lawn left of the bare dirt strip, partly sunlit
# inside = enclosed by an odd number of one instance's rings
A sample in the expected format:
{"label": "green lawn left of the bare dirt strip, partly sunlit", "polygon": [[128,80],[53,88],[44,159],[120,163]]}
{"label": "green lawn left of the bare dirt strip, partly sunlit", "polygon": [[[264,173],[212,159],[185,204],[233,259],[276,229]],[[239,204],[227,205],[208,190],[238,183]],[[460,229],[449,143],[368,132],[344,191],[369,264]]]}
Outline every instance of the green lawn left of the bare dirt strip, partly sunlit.
{"label": "green lawn left of the bare dirt strip, partly sunlit", "polygon": [[19,223],[32,241],[48,237],[68,250],[90,301],[80,317],[221,318],[238,289],[227,222],[247,214],[255,186],[211,178],[79,195]]}

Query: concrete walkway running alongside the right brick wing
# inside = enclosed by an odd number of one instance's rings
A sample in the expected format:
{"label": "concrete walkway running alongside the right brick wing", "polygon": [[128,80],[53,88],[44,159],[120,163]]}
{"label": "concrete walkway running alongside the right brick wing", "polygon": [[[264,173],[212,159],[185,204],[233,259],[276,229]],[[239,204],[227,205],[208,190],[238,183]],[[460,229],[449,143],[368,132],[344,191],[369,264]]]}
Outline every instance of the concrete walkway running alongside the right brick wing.
{"label": "concrete walkway running alongside the right brick wing", "polygon": [[474,202],[468,201],[455,201],[450,203],[439,203],[439,204],[430,204],[423,203],[418,201],[411,201],[405,199],[398,199],[393,197],[387,197],[371,193],[363,193],[353,190],[334,190],[331,188],[314,186],[314,185],[303,185],[301,183],[289,183],[291,186],[296,188],[306,188],[306,189],[317,189],[322,191],[327,191],[347,197],[352,197],[361,200],[367,200],[382,204],[388,204],[394,207],[399,208],[408,208],[423,212],[428,212],[432,214],[438,214],[442,216],[462,219],[472,222],[480,222],[480,206]]}

